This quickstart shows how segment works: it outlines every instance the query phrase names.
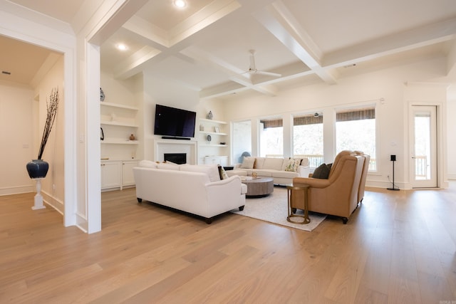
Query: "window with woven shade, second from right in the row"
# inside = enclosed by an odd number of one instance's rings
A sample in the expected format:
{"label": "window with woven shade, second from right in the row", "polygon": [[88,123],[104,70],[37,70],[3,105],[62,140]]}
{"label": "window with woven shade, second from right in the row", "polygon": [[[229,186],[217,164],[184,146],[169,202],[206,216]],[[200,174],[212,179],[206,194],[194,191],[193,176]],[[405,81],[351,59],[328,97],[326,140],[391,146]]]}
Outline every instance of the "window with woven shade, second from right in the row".
{"label": "window with woven shade, second from right in the row", "polygon": [[293,118],[293,155],[309,158],[311,168],[323,163],[323,115]]}

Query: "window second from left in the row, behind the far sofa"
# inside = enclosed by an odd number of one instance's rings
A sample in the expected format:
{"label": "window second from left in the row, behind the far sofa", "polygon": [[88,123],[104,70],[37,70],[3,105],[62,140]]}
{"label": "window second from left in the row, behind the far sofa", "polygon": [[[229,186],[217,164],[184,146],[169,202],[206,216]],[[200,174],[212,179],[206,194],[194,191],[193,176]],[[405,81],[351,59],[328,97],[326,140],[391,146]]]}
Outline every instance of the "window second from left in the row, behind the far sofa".
{"label": "window second from left in the row, behind the far sofa", "polygon": [[260,120],[260,157],[284,157],[284,127],[281,118]]}

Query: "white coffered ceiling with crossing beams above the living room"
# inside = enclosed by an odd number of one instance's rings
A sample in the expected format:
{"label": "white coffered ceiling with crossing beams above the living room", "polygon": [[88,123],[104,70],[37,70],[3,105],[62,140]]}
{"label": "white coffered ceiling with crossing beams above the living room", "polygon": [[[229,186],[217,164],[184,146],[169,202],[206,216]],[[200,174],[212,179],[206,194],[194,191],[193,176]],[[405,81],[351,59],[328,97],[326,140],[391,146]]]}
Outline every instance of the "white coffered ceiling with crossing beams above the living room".
{"label": "white coffered ceiling with crossing beams above the living room", "polygon": [[[9,2],[70,24],[87,3]],[[331,85],[347,74],[447,56],[456,34],[454,0],[187,0],[185,9],[172,0],[142,2],[101,44],[102,70],[121,79],[147,71],[202,98],[275,95],[291,85]],[[128,49],[119,51],[118,43]],[[258,70],[280,76],[246,73],[249,50],[256,50]]]}

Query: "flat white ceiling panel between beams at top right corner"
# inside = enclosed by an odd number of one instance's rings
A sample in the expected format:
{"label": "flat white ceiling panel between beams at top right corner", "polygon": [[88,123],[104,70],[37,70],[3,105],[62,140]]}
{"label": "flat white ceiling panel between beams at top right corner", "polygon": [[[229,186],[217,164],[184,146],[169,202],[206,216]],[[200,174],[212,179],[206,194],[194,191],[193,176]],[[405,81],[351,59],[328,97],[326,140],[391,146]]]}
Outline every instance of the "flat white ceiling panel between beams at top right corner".
{"label": "flat white ceiling panel between beams at top right corner", "polygon": [[456,17],[456,1],[283,0],[323,53]]}

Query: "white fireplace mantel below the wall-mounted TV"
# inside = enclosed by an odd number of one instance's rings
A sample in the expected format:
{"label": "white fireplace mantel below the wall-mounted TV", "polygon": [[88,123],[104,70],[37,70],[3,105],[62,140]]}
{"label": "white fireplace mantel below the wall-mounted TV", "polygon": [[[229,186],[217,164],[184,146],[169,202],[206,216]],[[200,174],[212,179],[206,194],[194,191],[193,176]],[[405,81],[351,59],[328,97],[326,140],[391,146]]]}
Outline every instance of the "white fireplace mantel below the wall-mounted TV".
{"label": "white fireplace mantel below the wall-mounted TV", "polygon": [[188,164],[197,164],[197,141],[196,140],[154,140],[155,159],[159,162],[164,160],[165,153],[185,153]]}

